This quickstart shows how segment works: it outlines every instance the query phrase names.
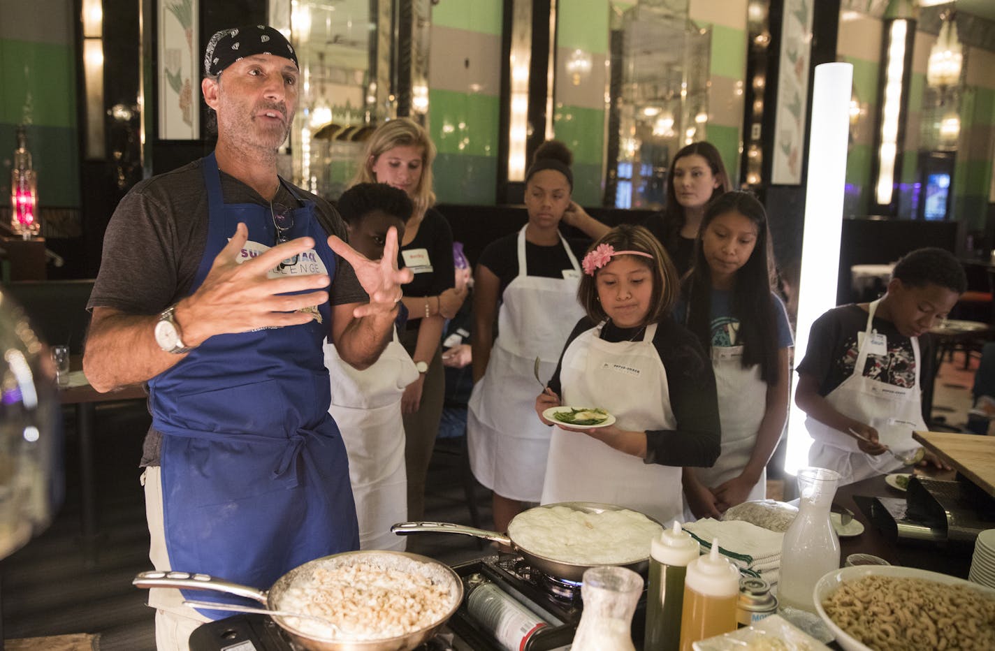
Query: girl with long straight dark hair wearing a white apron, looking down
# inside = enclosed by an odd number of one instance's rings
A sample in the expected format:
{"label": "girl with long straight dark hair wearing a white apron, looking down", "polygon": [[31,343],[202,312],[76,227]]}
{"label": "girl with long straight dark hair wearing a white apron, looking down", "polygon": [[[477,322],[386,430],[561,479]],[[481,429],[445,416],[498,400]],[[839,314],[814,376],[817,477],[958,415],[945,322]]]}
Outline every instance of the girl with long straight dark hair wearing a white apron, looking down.
{"label": "girl with long straight dark hair wearing a white apron, looking down", "polygon": [[710,351],[722,452],[711,468],[685,468],[691,515],[718,518],[766,498],[770,461],[788,416],[791,325],[771,292],[767,215],[748,192],[705,210],[678,320]]}

